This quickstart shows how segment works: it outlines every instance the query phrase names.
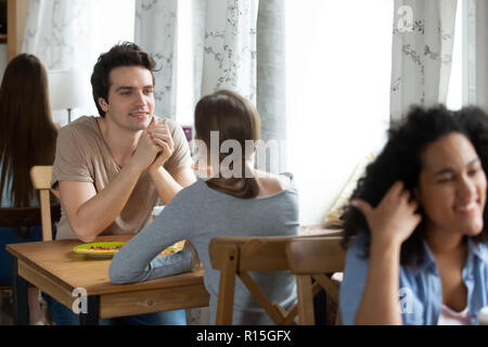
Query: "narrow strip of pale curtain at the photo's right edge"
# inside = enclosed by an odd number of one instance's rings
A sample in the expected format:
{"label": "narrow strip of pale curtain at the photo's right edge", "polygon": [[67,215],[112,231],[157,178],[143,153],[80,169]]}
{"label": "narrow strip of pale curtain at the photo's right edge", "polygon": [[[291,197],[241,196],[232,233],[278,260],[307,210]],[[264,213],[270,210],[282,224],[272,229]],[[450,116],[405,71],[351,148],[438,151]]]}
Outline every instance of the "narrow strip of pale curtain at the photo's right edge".
{"label": "narrow strip of pale curtain at the photo's right edge", "polygon": [[488,7],[486,0],[465,0],[465,76],[463,103],[488,111]]}

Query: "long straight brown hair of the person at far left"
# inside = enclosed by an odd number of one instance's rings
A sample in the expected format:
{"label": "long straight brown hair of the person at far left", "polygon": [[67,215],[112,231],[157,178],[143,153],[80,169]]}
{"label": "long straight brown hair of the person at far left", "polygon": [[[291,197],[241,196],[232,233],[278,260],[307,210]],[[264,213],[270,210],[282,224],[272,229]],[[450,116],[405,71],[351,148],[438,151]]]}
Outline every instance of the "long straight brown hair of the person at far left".
{"label": "long straight brown hair of the person at far left", "polygon": [[36,195],[29,170],[52,165],[56,134],[46,68],[35,55],[20,54],[0,87],[0,191],[11,182],[13,207],[30,206]]}

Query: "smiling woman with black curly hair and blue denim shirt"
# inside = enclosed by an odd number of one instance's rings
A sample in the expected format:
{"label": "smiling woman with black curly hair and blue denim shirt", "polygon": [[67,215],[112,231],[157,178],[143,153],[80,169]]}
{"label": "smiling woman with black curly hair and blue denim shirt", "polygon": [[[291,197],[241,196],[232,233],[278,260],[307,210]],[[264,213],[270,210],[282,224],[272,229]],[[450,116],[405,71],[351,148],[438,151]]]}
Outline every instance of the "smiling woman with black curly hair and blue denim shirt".
{"label": "smiling woman with black curly hair and blue denim shirt", "polygon": [[343,215],[343,323],[478,323],[488,305],[487,117],[415,107],[391,127]]}

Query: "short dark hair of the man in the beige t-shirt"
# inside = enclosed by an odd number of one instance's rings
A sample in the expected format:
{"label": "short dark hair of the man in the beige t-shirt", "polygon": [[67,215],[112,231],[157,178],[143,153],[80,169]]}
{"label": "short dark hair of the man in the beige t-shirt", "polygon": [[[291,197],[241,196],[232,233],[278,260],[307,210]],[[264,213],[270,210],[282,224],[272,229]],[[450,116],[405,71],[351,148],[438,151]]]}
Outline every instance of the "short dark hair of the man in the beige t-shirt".
{"label": "short dark hair of the man in the beige t-shirt", "polygon": [[139,46],[131,42],[123,42],[114,46],[108,52],[102,53],[93,67],[91,75],[91,87],[93,92],[93,100],[102,117],[105,117],[105,112],[99,105],[99,99],[103,98],[108,102],[108,89],[111,87],[110,74],[119,66],[142,66],[147,68],[153,76],[156,70],[156,63],[154,60]]}

